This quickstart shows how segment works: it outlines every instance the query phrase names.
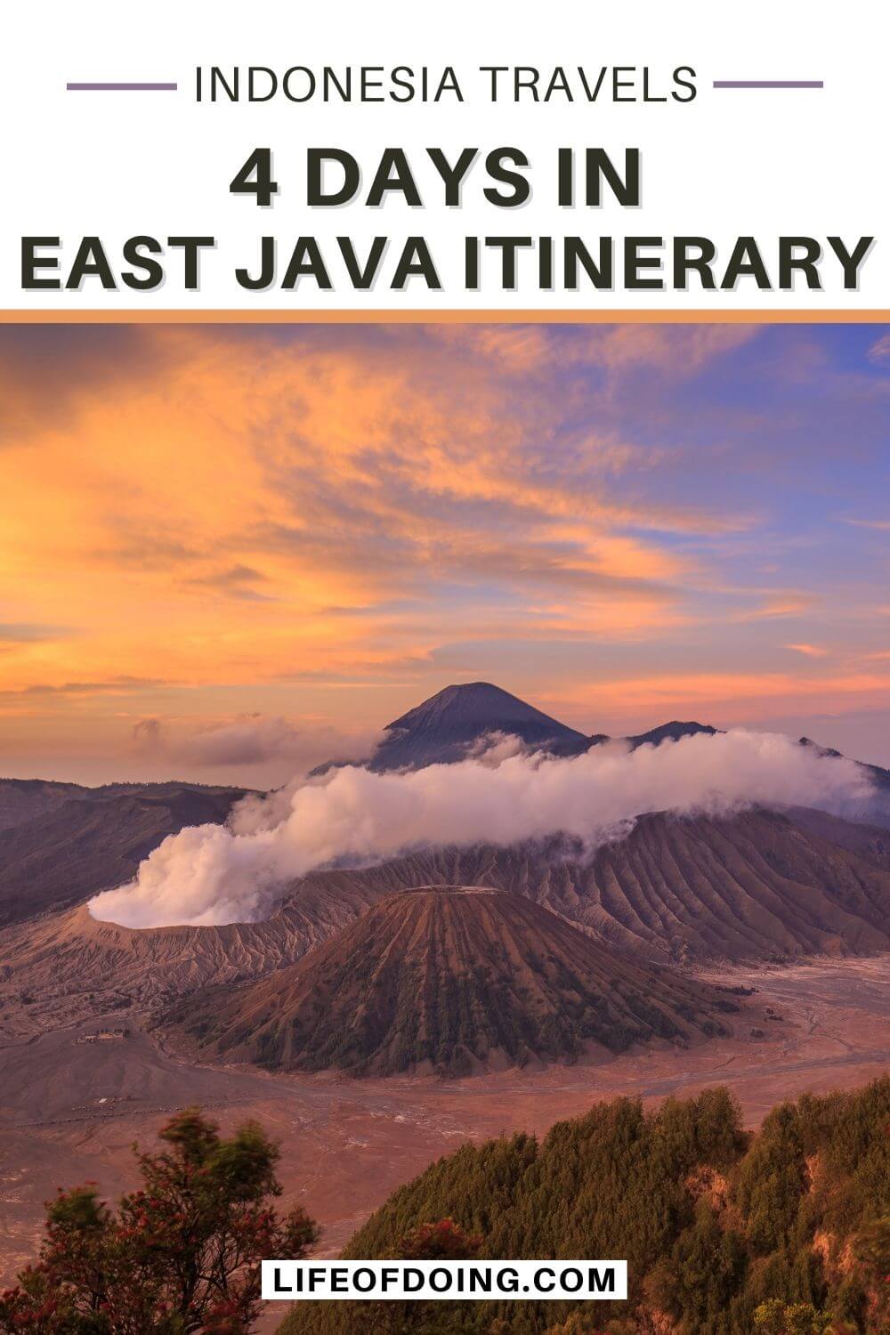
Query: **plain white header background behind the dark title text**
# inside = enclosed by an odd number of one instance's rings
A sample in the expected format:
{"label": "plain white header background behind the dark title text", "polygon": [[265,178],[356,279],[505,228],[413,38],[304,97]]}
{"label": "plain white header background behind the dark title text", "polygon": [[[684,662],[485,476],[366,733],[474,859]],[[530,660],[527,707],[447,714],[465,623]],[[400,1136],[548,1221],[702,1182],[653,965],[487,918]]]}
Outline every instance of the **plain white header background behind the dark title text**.
{"label": "plain white header background behind the dark title text", "polygon": [[[328,0],[298,5],[254,0],[8,0],[3,13],[0,81],[4,204],[0,215],[0,307],[5,310],[878,310],[890,308],[890,174],[886,166],[886,53],[889,11],[875,0],[843,5],[799,0],[711,3],[503,3],[446,0],[360,4]],[[454,65],[466,101],[438,104],[306,104],[278,96],[267,103],[195,101],[195,67],[430,65],[432,79]],[[495,105],[483,64],[535,65],[546,81],[552,67],[578,64],[650,67],[655,92],[670,91],[678,65],[691,65],[698,95],[691,103],[588,104],[523,99]],[[590,76],[590,73],[588,73]],[[246,77],[243,75],[243,77]],[[823,89],[714,89],[722,79],[821,79]],[[176,81],[177,92],[67,92],[67,81]],[[440,147],[450,160],[462,148],[482,154],[463,186],[463,206],[443,207],[443,184],[426,158]],[[482,196],[491,184],[483,158],[500,146],[531,160],[532,199],[523,208],[494,208]],[[558,147],[603,147],[623,164],[623,150],[642,150],[643,203],[622,208],[559,208]],[[236,171],[256,147],[274,151],[279,194],[268,208],[230,194]],[[399,196],[380,208],[356,202],[342,208],[304,204],[306,148],[340,147],[363,166],[367,190],[384,147],[403,147],[424,198],[410,208]],[[360,196],[359,196],[360,198]],[[753,279],[735,291],[706,292],[693,276],[689,291],[626,292],[616,264],[614,291],[583,279],[576,292],[540,291],[536,264],[520,263],[520,284],[463,288],[464,235],[576,234],[591,248],[600,234],[710,236],[718,266],[738,235],[758,239],[778,283],[778,236],[839,235],[853,247],[861,235],[877,244],[861,271],[859,291],[845,291],[834,259],[822,264],[825,291],[798,276],[793,292],[761,292]],[[20,238],[59,235],[61,270],[83,235],[99,235],[120,272],[125,238],[148,234],[215,235],[205,252],[200,291],[183,287],[181,255],[168,260],[167,280],[151,292],[103,291],[95,278],[80,291],[23,292]],[[359,255],[375,235],[392,239],[372,291],[347,280],[335,238],[348,234]],[[404,238],[423,234],[444,290],[422,279],[404,291],[390,287]],[[318,239],[335,290],[311,279],[295,291],[242,290],[239,266],[259,262],[259,238],[274,235],[290,256],[300,235]],[[556,252],[559,247],[556,247]],[[495,274],[498,256],[488,260]],[[522,260],[522,256],[520,256]],[[284,260],[286,263],[286,260]],[[279,263],[279,276],[284,263]],[[486,270],[483,268],[483,275]]]}

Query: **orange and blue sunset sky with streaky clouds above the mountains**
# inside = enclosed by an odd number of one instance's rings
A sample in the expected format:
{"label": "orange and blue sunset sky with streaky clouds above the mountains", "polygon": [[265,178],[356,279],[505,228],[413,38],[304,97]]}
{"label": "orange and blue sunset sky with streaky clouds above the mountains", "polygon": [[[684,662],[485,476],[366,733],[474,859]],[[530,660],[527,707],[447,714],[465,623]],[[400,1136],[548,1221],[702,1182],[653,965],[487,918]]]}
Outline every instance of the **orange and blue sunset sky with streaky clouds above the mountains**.
{"label": "orange and blue sunset sky with streaky clouds above the mountains", "polygon": [[271,785],[450,682],[890,764],[890,331],[5,326],[0,772]]}

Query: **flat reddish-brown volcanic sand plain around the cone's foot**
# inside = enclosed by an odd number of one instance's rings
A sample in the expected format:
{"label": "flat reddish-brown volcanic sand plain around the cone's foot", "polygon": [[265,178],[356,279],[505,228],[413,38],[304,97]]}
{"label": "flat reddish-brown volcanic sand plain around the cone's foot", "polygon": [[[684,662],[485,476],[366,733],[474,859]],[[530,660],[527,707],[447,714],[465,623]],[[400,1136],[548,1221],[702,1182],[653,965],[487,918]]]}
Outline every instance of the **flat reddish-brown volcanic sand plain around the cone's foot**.
{"label": "flat reddish-brown volcanic sand plain around the cone's foot", "polygon": [[[395,1187],[466,1140],[543,1135],[599,1099],[652,1104],[714,1084],[729,1085],[754,1127],[782,1099],[850,1089],[890,1067],[890,955],[698,976],[757,988],[751,1007],[778,1019],[743,1016],[735,1036],[683,1051],[463,1080],[196,1065],[133,1013],[113,1021],[124,1037],[83,1041],[96,1033],[92,1023],[0,1048],[0,1283],[35,1256],[43,1202],[57,1187],[92,1180],[113,1200],[135,1184],[132,1143],[152,1145],[159,1125],[189,1104],[223,1129],[256,1119],[280,1140],[282,1204],[307,1208],[323,1230],[319,1255],[331,1256]],[[749,1036],[749,1019],[763,1037]]]}

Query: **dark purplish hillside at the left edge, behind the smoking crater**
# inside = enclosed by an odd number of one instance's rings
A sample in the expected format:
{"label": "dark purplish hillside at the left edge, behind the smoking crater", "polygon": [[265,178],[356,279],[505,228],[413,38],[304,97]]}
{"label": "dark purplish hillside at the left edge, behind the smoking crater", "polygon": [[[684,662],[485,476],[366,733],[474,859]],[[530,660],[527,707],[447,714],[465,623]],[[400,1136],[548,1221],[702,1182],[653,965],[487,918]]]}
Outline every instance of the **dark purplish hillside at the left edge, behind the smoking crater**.
{"label": "dark purplish hillside at the left edge, behind the smoking crater", "polygon": [[184,825],[220,824],[244,789],[0,781],[0,926],[128,881]]}

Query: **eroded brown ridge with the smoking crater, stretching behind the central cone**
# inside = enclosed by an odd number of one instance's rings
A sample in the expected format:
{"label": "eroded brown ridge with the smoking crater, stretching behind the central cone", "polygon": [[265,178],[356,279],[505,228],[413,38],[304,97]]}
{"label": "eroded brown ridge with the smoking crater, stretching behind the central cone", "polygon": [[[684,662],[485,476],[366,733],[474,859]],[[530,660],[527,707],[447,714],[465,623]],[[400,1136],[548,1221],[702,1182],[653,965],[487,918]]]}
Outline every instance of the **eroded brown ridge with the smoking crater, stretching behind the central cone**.
{"label": "eroded brown ridge with the smoking crater, stretching behind the central cone", "polygon": [[552,840],[312,872],[258,922],[137,929],[99,922],[85,904],[45,913],[0,934],[0,1041],[267,977],[386,896],[431,884],[524,896],[608,951],[666,967],[890,951],[885,830],[809,809],[650,814],[591,857]]}

